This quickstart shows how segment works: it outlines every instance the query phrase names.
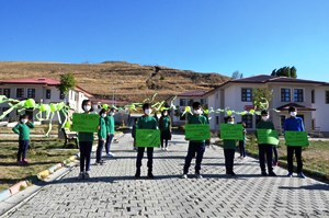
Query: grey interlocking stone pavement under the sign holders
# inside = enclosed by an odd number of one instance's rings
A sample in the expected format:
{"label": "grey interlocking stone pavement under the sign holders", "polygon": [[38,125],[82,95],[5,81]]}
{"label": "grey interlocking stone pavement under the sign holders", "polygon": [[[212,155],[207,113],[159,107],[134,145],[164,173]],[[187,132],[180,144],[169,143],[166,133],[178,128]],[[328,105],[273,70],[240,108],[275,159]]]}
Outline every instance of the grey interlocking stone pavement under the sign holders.
{"label": "grey interlocking stone pavement under the sign holders", "polygon": [[252,158],[236,158],[238,175],[228,177],[219,147],[206,149],[204,179],[180,179],[186,149],[183,136],[173,135],[169,151],[155,150],[156,179],[145,177],[145,158],[143,177],[135,180],[136,152],[125,135],[113,145],[116,158],[92,165],[90,180],[78,181],[75,168],[5,217],[329,217],[329,185],[286,177],[280,168],[277,177],[261,177]]}

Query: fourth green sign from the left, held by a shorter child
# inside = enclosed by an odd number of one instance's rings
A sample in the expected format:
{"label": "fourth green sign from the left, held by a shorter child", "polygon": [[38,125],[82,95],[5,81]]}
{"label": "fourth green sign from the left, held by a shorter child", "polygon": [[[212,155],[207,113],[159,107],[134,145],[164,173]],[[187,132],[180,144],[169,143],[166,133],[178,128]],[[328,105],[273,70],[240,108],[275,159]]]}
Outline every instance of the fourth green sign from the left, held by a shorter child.
{"label": "fourth green sign from the left, held by a shorter child", "polygon": [[243,140],[241,124],[220,124],[220,138],[229,140]]}

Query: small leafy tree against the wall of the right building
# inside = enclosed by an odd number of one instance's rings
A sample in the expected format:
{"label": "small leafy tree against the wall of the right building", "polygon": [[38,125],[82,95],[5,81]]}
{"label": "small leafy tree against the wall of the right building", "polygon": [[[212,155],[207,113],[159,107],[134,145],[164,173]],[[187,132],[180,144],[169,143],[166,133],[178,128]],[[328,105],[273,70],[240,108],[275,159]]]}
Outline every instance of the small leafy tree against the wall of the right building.
{"label": "small leafy tree against the wall of the right building", "polygon": [[252,99],[254,110],[268,110],[269,104],[273,99],[273,90],[269,88],[254,88],[252,89]]}

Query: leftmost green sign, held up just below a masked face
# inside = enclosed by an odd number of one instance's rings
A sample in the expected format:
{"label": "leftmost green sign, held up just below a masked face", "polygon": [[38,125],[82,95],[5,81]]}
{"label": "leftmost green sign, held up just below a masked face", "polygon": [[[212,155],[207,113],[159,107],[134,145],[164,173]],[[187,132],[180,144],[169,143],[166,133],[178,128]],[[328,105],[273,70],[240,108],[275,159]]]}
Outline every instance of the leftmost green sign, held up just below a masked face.
{"label": "leftmost green sign, held up just below a masked face", "polygon": [[99,130],[100,116],[98,114],[78,114],[72,115],[72,131],[97,133]]}

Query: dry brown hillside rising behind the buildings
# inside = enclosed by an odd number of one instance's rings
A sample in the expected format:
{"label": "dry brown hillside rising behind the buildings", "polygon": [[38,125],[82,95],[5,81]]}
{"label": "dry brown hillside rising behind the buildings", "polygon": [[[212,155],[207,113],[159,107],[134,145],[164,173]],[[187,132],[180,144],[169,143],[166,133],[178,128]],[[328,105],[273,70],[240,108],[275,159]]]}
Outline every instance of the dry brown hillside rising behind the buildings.
{"label": "dry brown hillside rising behind the buildings", "polygon": [[140,102],[158,93],[157,100],[189,90],[209,90],[229,78],[167,67],[140,66],[124,61],[103,64],[0,62],[0,79],[53,78],[72,72],[78,84],[99,97]]}

